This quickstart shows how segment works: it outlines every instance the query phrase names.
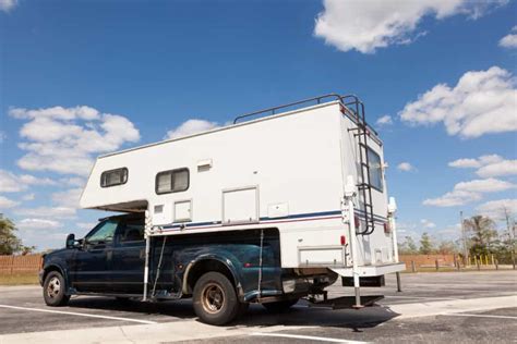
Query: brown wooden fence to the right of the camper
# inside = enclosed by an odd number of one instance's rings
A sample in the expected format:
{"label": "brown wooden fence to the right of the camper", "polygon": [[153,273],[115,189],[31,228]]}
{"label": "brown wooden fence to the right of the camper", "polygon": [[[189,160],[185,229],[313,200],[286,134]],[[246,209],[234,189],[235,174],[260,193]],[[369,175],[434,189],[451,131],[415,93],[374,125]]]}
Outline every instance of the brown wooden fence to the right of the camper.
{"label": "brown wooden fence to the right of the camper", "polygon": [[406,271],[410,272],[429,270],[440,271],[441,269],[516,269],[514,255],[512,255],[512,265],[505,266],[500,265],[495,255],[470,256],[466,261],[458,255],[400,255],[399,261],[406,263]]}

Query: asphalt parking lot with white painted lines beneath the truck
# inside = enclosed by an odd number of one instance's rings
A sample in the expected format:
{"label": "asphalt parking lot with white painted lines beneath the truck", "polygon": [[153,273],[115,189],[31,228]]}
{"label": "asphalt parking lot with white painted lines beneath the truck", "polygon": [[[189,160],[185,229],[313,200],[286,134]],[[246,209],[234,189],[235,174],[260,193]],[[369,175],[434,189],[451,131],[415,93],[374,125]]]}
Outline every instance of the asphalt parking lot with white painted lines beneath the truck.
{"label": "asphalt parking lot with white painted lines beneath the truck", "polygon": [[[517,333],[517,272],[440,272],[402,274],[402,292],[395,278],[382,288],[376,306],[360,310],[329,310],[299,302],[274,315],[253,305],[228,327],[196,320],[190,300],[117,302],[109,297],[73,297],[68,307],[45,306],[39,286],[0,287],[0,343],[294,343],[378,342],[515,343]],[[338,284],[329,297],[351,295]]]}

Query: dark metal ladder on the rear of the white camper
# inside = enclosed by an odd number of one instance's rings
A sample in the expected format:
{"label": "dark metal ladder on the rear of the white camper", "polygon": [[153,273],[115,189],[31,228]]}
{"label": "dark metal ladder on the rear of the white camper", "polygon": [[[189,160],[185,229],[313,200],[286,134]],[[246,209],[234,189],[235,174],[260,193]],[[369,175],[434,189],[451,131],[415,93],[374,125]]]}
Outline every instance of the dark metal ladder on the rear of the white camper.
{"label": "dark metal ladder on the rear of the white camper", "polygon": [[[364,105],[356,96],[345,96],[344,106],[347,110],[351,110],[357,119],[357,127],[349,130],[356,131],[353,134],[358,139],[359,148],[359,174],[361,181],[357,184],[359,195],[362,196],[362,211],[365,219],[365,226],[358,231],[358,235],[370,235],[375,230],[375,219],[373,212],[372,184],[370,183],[370,161],[368,157],[368,139],[370,136],[370,128],[366,124],[364,112]],[[351,99],[346,101],[347,99]],[[351,108],[351,109],[350,109]]]}

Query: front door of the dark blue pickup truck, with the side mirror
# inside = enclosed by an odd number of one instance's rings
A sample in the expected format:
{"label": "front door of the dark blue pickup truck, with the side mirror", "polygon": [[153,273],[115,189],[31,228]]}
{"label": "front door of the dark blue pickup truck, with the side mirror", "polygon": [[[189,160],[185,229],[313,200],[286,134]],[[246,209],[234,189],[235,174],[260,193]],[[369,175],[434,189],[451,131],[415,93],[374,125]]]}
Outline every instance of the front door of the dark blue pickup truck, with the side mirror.
{"label": "front door of the dark blue pickup truck, with the side mirror", "polygon": [[106,220],[97,224],[84,238],[74,255],[72,283],[80,292],[111,291],[111,256],[119,222]]}

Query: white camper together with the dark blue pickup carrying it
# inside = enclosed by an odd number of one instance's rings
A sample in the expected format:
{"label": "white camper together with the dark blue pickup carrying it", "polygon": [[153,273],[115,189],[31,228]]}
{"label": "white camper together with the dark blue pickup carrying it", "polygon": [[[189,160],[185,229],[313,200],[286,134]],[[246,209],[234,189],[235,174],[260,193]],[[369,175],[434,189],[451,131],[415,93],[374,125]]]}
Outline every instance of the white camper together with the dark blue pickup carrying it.
{"label": "white camper together with the dark blue pickup carrying it", "polygon": [[[212,324],[250,303],[369,305],[360,287],[404,270],[384,170],[363,103],[335,94],[98,157],[81,207],[123,214],[45,256],[45,300],[192,297]],[[327,298],[338,279],[354,296]]]}

